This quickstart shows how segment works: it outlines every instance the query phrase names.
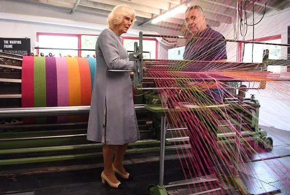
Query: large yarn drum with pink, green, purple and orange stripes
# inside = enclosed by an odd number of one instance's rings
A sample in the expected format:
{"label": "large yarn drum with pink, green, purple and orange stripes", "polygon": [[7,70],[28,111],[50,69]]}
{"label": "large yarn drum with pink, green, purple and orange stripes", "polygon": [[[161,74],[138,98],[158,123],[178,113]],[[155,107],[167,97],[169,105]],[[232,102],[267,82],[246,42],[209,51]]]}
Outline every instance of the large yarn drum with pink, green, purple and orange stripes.
{"label": "large yarn drum with pink, green, purple and orange stripes", "polygon": [[22,107],[89,106],[95,70],[93,58],[24,56]]}

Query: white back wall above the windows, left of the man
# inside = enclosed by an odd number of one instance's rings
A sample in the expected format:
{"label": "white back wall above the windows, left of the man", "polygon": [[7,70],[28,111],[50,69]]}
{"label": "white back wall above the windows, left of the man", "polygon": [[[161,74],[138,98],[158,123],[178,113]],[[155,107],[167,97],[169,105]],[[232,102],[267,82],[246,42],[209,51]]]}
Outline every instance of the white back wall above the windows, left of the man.
{"label": "white back wall above the windows, left of the man", "polygon": [[[29,38],[31,51],[34,51],[37,32],[92,34],[97,35],[107,28],[107,15],[104,13],[83,13],[71,9],[59,8],[45,4],[23,2],[23,0],[0,0],[0,37],[1,38]],[[138,27],[137,24],[128,33],[122,36],[137,37],[143,34],[169,34],[176,32],[162,29],[158,26],[146,24]],[[166,46],[160,44],[159,54],[167,56]]]}

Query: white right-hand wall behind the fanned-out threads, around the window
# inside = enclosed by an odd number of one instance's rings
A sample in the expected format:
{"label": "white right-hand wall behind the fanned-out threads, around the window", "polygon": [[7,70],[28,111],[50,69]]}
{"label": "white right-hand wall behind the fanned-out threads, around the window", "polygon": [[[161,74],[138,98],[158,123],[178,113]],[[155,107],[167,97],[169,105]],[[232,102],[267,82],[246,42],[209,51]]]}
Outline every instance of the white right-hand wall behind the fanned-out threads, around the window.
{"label": "white right-hand wall behind the fanned-out threads, around the window", "polygon": [[[261,16],[255,15],[254,17],[255,22],[261,19]],[[249,18],[248,22],[252,24],[252,18]],[[254,39],[281,35],[281,43],[287,44],[288,26],[290,26],[289,8],[280,12],[272,11],[254,26]],[[226,39],[234,38],[233,24],[223,23],[219,28],[213,27],[213,29],[223,34]],[[252,27],[248,26],[245,40],[252,39],[252,32]],[[241,39],[242,37],[239,35],[239,40]],[[236,45],[237,43],[227,42],[228,61],[236,61]],[[287,59],[287,47],[281,47],[281,58]],[[290,78],[289,72],[287,77]],[[247,97],[254,94],[261,104],[259,124],[290,131],[289,89],[290,82],[273,82],[267,83],[264,90],[249,90],[247,92]]]}

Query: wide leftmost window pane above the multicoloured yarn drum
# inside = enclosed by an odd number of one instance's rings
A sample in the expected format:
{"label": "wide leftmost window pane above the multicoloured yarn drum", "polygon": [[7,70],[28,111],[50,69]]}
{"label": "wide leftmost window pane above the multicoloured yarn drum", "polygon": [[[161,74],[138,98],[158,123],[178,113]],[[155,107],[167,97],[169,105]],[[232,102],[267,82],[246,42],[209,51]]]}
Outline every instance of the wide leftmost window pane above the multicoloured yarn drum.
{"label": "wide leftmost window pane above the multicoloured yarn drum", "polygon": [[[39,47],[65,49],[78,48],[78,35],[38,33],[37,40]],[[44,56],[47,56],[49,53],[52,53],[55,56],[59,56],[59,54],[61,54],[61,56],[78,56],[77,50],[39,49],[38,53],[43,53]]]}

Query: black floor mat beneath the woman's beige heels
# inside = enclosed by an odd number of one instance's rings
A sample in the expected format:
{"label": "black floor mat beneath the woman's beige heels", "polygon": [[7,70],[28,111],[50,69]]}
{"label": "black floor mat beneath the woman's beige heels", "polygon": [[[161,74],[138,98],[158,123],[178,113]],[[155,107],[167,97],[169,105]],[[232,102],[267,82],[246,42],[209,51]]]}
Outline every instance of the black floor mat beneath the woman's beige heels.
{"label": "black floor mat beneath the woman's beige heels", "polygon": [[[165,182],[184,179],[184,175],[180,171],[179,165],[179,160],[165,162]],[[125,166],[125,168],[127,172],[136,175],[135,181],[126,181],[120,179],[122,183],[129,187],[128,189],[133,191],[131,193],[132,195],[145,195],[145,189],[149,183],[158,184],[159,162],[134,164]],[[100,178],[102,169],[103,168],[29,176],[2,176],[0,177],[0,194],[19,193],[35,190],[35,195],[63,195],[65,193],[61,194],[62,192],[69,190],[71,191],[69,194],[74,195],[72,193],[74,193],[75,189],[78,188],[76,186],[82,186],[81,189],[85,189],[87,186],[89,189],[88,191],[93,190],[94,186],[96,186],[97,192],[100,191],[100,189],[106,192],[108,190],[108,193],[113,193],[112,195],[114,195],[114,193],[119,192],[120,190],[100,188],[102,185]],[[50,193],[52,187],[54,187],[53,190],[56,191],[56,194]],[[73,190],[70,190],[70,188]],[[129,193],[130,190],[128,189],[127,191]],[[58,192],[60,194],[57,194]],[[78,192],[79,195],[81,191],[76,192]],[[119,193],[122,193],[122,190]],[[95,193],[95,195],[97,194]],[[102,195],[105,195],[104,192]]]}

